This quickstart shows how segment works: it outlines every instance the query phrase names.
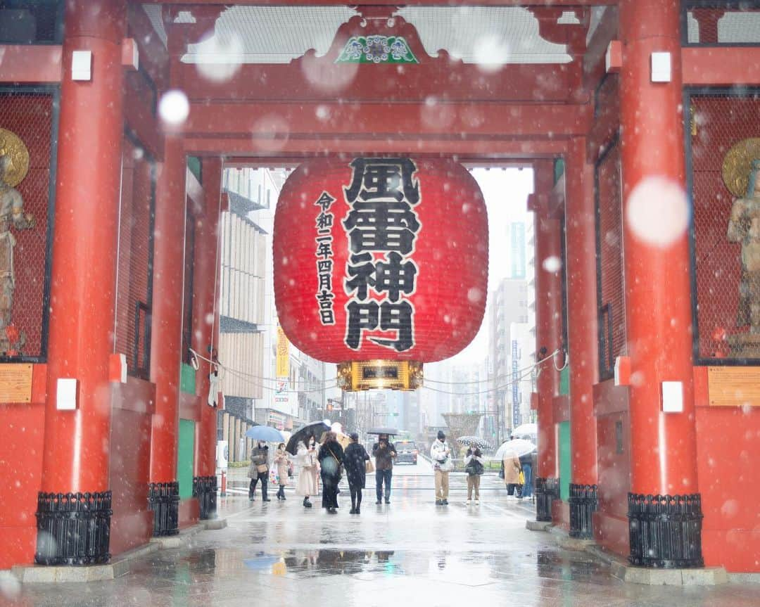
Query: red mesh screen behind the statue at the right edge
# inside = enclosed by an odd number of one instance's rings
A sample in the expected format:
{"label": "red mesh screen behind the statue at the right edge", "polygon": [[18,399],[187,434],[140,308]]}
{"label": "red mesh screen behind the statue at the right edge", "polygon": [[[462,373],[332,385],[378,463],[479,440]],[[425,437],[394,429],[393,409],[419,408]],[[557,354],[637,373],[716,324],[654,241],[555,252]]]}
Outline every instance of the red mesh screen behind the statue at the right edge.
{"label": "red mesh screen behind the statue at the right edge", "polygon": [[[729,237],[737,197],[731,194],[723,179],[724,158],[729,150],[747,138],[760,137],[760,93],[693,93],[689,96],[689,114],[687,153],[691,161],[689,185],[694,206],[695,292],[692,297],[696,356],[702,361],[760,359],[740,343],[747,339],[741,336],[750,329],[749,314],[740,291],[743,248],[752,239],[747,232],[746,238],[731,242],[737,240]],[[743,172],[749,175],[749,166]],[[743,226],[735,227],[742,229]]]}

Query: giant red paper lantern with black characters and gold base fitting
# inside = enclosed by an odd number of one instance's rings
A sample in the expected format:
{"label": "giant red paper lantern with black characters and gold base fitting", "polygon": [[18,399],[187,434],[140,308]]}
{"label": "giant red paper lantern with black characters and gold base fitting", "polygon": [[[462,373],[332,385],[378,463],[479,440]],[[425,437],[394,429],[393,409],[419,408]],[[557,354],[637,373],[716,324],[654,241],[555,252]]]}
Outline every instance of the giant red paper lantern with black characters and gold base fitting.
{"label": "giant red paper lantern with black characters and gold base fitting", "polygon": [[309,160],[283,186],[280,324],[302,352],[340,363],[344,389],[420,385],[423,362],[477,334],[487,280],[483,194],[452,160]]}

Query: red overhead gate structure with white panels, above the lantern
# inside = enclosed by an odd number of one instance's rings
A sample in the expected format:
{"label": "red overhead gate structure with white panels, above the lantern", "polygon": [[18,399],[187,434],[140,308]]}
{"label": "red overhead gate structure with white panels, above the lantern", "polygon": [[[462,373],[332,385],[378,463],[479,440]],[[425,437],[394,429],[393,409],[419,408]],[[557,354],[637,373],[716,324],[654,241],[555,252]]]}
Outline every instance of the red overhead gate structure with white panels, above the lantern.
{"label": "red overhead gate structure with white panels, above the lantern", "polygon": [[[591,125],[615,2],[141,2],[132,35],[191,104],[185,149],[225,155],[558,156]],[[337,62],[401,36],[414,63]]]}

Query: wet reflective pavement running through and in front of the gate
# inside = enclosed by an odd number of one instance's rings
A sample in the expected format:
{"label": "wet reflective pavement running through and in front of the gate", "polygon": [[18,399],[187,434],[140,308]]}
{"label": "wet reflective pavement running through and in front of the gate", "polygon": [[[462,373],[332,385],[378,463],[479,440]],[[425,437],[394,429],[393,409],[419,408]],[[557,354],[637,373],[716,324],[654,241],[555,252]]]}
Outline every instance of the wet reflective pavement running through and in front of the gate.
{"label": "wet reflective pavement running through and in front of the gate", "polygon": [[376,505],[372,488],[359,516],[348,512],[347,488],[330,515],[318,499],[303,508],[292,488],[287,501],[273,492],[249,504],[235,478],[233,497],[220,499],[226,529],[146,555],[118,580],[5,584],[0,605],[760,605],[760,585],[622,583],[590,555],[527,531],[532,504],[507,498],[495,475],[483,477],[477,506],[464,504],[464,475],[452,475],[449,505],[436,507],[429,465],[397,466],[391,504]]}

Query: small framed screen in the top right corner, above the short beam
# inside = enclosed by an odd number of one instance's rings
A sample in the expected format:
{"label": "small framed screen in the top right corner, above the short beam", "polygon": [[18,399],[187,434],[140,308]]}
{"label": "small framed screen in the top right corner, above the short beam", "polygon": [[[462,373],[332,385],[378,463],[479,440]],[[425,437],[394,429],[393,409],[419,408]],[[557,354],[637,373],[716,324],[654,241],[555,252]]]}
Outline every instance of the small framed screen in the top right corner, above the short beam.
{"label": "small framed screen in the top right corner, above the short beam", "polygon": [[683,36],[692,46],[760,44],[760,2],[692,0],[683,3]]}

